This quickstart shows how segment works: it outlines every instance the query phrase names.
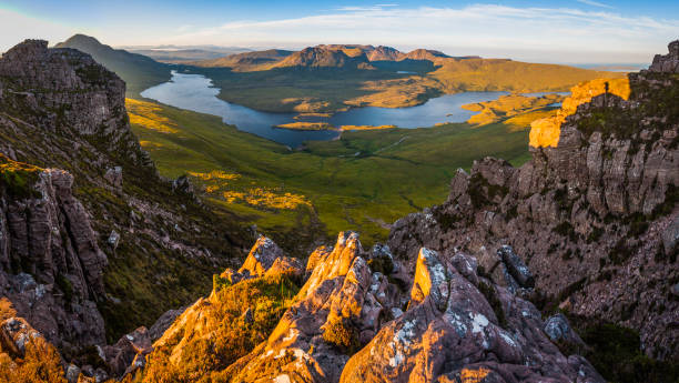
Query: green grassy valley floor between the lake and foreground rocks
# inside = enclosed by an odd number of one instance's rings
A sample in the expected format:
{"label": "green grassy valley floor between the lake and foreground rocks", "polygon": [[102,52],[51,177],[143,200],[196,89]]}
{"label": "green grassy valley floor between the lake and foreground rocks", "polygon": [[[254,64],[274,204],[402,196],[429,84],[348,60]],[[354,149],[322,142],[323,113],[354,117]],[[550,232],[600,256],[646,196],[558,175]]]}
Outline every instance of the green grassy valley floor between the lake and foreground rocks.
{"label": "green grassy valley floor between the lake and foreground rocks", "polygon": [[[346,229],[361,231],[367,243],[383,240],[388,230],[381,221],[392,223],[407,213],[440,203],[457,168],[468,169],[484,155],[501,157],[514,163],[528,159],[527,131],[508,132],[501,123],[478,129],[448,124],[434,129],[344,132],[341,140],[311,142],[305,151],[292,152],[226,125],[216,117],[159,107],[156,114],[171,121],[174,133],[140,123],[132,128],[160,172],[172,178],[214,170],[234,174],[229,179],[194,181],[219,188],[209,194],[213,202],[246,216],[283,242],[287,231],[332,236]],[[135,113],[133,105],[129,108]],[[247,194],[253,189],[267,190],[277,196],[292,193],[311,206],[302,203],[296,209],[276,209],[243,200],[229,203],[223,198],[223,192]]]}

